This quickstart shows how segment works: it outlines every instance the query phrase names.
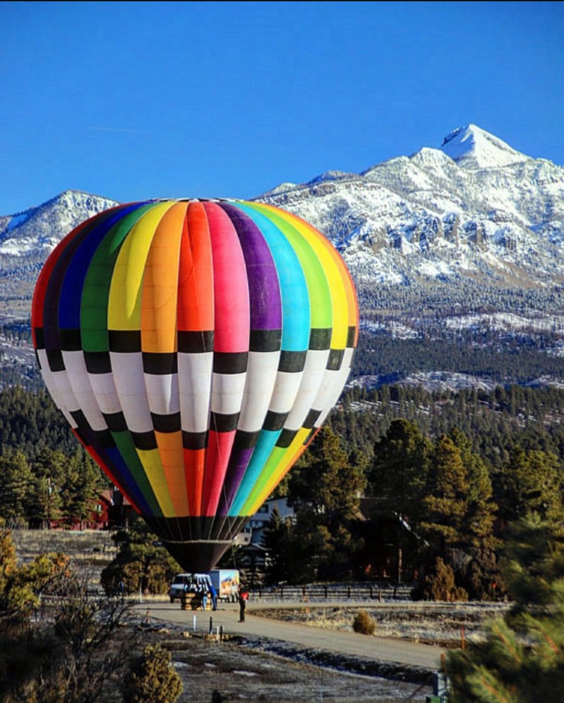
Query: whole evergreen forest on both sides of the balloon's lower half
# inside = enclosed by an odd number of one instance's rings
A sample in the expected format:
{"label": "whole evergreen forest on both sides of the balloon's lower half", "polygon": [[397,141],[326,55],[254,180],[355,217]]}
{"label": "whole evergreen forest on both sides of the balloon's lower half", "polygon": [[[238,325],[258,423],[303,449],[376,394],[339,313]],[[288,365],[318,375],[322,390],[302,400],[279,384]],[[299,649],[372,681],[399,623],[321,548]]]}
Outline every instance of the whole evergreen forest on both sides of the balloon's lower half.
{"label": "whole evergreen forest on both sides of the balloon's lower half", "polygon": [[[564,519],[563,420],[564,390],[548,386],[350,388],[276,489],[296,521],[271,523],[267,578],[441,581],[446,569],[442,597],[493,597],[504,526],[531,510]],[[43,391],[0,393],[0,450],[8,524],[86,519],[108,486]]]}

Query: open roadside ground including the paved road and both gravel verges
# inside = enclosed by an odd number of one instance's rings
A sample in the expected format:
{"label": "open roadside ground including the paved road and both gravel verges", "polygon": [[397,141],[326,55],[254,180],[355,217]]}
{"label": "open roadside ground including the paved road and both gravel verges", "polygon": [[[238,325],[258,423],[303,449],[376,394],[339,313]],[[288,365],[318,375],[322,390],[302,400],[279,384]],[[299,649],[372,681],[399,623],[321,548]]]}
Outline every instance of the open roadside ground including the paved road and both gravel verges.
{"label": "open roadside ground including the paved road and both gravel verges", "polygon": [[[376,622],[373,637],[352,632],[352,619],[361,607]],[[461,638],[480,639],[485,621],[505,607],[255,603],[249,604],[245,623],[237,625],[233,606],[203,613],[153,602],[139,604],[136,612],[141,617],[146,608],[140,627],[170,650],[184,680],[181,702],[210,703],[215,696],[213,703],[399,703],[425,701],[432,693],[432,677],[438,669],[434,663],[440,662],[441,652],[461,646]],[[288,624],[300,633],[299,638],[288,639]],[[314,640],[307,638],[308,631],[315,633]],[[362,647],[346,650],[340,645],[343,635]],[[390,654],[395,645],[405,647],[402,661]],[[420,646],[410,650],[414,645]],[[368,654],[363,647],[368,647]],[[411,661],[410,652],[430,650],[431,666]],[[359,651],[363,653],[355,653]]]}

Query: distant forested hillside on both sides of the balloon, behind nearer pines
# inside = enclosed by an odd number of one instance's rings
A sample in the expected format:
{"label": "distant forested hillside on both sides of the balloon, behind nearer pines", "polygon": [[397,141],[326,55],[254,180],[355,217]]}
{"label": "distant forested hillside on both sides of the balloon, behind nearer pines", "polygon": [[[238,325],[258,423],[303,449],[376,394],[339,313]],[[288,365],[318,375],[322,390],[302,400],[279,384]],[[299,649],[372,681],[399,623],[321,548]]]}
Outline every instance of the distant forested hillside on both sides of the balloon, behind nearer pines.
{"label": "distant forested hillside on both sides of the balloon, behind nearer pines", "polygon": [[[328,417],[347,448],[372,455],[394,419],[413,422],[430,438],[459,429],[473,449],[496,465],[520,443],[554,452],[564,462],[564,389],[498,386],[430,393],[421,386],[351,388]],[[15,387],[0,393],[0,448],[20,450],[30,460],[58,450],[72,455],[79,443],[45,391]]]}

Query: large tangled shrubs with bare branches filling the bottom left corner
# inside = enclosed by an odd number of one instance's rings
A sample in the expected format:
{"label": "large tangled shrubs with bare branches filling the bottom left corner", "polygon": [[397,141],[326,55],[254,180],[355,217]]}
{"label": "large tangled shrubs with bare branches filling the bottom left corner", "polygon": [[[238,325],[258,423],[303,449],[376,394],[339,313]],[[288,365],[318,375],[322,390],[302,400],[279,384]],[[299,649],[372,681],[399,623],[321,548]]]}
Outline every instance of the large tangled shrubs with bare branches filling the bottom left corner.
{"label": "large tangled shrubs with bare branches filling the bottom left corner", "polygon": [[[10,562],[6,566],[9,566]],[[130,635],[122,623],[127,603],[92,599],[86,580],[67,571],[68,559],[41,555],[0,583],[0,700],[27,703],[96,703],[113,700],[114,680],[124,671]],[[0,572],[4,559],[0,555]],[[59,596],[39,610],[37,593]],[[16,597],[17,596],[17,597]],[[7,609],[6,609],[7,608]]]}

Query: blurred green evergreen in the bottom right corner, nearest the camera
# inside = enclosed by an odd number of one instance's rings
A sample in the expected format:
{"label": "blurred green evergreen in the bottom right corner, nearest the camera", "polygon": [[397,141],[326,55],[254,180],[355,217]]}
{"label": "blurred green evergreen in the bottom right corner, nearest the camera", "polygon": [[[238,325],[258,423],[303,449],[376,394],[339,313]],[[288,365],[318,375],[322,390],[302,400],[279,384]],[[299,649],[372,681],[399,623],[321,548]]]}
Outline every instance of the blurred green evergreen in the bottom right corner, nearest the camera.
{"label": "blurred green evergreen in the bottom right corner, nearest the camera", "polygon": [[527,514],[511,528],[503,571],[514,606],[486,641],[450,652],[456,703],[564,699],[564,531]]}

